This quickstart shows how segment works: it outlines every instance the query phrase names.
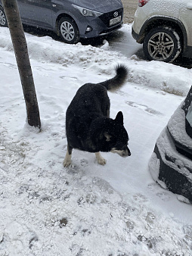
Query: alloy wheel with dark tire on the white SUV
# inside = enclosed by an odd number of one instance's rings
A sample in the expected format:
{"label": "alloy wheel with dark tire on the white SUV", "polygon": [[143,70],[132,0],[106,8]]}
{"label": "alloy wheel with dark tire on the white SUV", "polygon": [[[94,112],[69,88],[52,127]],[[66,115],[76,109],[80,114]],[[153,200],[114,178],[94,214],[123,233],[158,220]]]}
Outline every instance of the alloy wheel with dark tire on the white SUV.
{"label": "alloy wheel with dark tire on the white SUV", "polygon": [[171,27],[156,27],[145,36],[143,49],[150,61],[172,62],[181,52],[181,41]]}

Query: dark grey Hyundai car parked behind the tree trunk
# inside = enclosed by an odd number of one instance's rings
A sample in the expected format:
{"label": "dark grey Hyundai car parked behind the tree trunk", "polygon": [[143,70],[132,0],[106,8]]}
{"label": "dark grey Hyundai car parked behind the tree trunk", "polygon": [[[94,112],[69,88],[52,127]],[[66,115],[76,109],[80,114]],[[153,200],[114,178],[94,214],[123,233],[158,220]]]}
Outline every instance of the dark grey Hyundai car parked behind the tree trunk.
{"label": "dark grey Hyundai car parked behind the tree trunk", "polygon": [[[52,30],[63,42],[104,36],[122,27],[121,0],[17,0],[25,25]],[[0,0],[0,26],[7,27]]]}

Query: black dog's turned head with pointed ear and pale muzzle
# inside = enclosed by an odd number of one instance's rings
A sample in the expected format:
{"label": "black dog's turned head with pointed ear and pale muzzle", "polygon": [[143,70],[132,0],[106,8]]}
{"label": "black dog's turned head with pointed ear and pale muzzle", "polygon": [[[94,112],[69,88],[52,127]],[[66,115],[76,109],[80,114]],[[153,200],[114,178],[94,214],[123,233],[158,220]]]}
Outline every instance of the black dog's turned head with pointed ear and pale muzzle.
{"label": "black dog's turned head with pointed ear and pale muzzle", "polygon": [[123,115],[119,111],[116,118],[110,119],[110,123],[107,123],[107,127],[104,130],[105,144],[107,143],[110,152],[117,153],[122,158],[131,155],[131,151],[128,148],[129,136],[125,127],[123,126]]}

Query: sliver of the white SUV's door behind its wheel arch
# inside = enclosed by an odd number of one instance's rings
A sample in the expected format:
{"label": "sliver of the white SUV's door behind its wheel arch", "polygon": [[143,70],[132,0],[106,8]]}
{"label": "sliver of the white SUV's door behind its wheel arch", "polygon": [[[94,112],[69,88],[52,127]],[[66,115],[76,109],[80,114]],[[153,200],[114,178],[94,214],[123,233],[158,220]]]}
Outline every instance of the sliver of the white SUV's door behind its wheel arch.
{"label": "sliver of the white SUV's door behind its wheel arch", "polygon": [[192,46],[192,1],[184,0],[185,6],[181,8],[179,20],[182,21],[187,31],[187,45]]}

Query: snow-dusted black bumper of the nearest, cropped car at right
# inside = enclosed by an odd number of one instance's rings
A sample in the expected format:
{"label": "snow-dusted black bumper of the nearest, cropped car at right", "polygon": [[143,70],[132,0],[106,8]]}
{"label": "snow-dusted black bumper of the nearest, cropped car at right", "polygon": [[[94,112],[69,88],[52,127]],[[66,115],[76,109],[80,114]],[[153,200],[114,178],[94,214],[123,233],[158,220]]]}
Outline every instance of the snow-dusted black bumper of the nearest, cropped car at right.
{"label": "snow-dusted black bumper of the nearest, cropped car at right", "polygon": [[178,153],[166,127],[156,141],[149,170],[153,180],[192,202],[192,161]]}

